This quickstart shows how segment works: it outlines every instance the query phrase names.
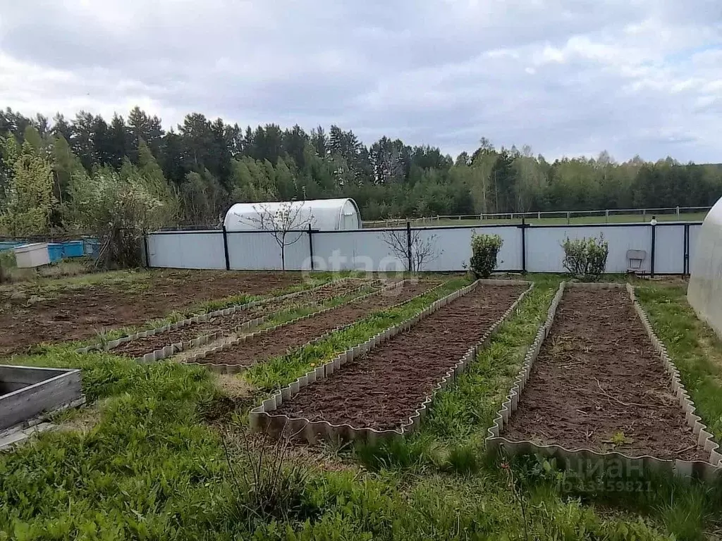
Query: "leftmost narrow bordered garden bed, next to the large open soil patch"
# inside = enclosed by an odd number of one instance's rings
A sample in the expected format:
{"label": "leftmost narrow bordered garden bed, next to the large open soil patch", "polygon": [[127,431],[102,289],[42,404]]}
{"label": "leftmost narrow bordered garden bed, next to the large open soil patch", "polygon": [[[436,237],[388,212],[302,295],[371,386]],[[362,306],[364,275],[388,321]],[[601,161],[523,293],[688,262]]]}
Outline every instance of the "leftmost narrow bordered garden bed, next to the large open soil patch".
{"label": "leftmost narrow bordered garden bed, next to the large open soil patch", "polygon": [[[139,333],[131,336],[131,340],[121,342],[112,349],[117,355],[139,358],[145,354],[160,350],[166,346],[180,344],[178,350],[189,345],[191,340],[201,337],[222,338],[237,332],[240,327],[250,322],[260,323],[266,317],[300,305],[322,304],[337,296],[344,296],[358,291],[364,286],[371,286],[374,281],[362,278],[347,278],[323,284],[318,288],[299,291],[295,294],[266,299],[240,307],[228,313],[220,310],[209,314],[207,319],[192,318],[177,324],[155,330],[154,334]],[[123,340],[121,338],[121,340]],[[209,341],[209,340],[206,340]]]}

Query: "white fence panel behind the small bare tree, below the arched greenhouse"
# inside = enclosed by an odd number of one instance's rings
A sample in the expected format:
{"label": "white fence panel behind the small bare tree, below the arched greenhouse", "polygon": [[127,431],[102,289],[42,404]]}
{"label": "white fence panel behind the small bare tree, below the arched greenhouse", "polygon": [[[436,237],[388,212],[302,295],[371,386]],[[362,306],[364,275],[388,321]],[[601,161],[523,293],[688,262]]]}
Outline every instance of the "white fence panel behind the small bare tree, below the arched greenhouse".
{"label": "white fence panel behind the small bare tree, below the arched greenhouse", "polygon": [[[279,271],[281,247],[271,233],[228,232],[228,261],[236,271]],[[286,270],[310,269],[307,232],[288,232]]]}

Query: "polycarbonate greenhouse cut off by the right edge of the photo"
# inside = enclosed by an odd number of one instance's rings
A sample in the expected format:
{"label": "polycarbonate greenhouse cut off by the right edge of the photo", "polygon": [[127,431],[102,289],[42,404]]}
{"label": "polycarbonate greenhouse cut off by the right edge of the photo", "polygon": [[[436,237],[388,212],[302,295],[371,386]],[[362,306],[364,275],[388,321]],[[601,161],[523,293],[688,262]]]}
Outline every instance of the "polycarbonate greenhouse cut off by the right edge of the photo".
{"label": "polycarbonate greenhouse cut off by the right edge of the photo", "polygon": [[722,338],[722,198],[702,224],[690,271],[687,300]]}

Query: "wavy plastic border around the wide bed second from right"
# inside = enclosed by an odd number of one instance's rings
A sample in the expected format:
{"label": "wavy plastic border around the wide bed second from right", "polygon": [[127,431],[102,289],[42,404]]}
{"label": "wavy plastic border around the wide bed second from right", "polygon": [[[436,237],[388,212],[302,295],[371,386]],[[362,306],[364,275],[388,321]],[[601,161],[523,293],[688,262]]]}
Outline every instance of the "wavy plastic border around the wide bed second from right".
{"label": "wavy plastic border around the wide bed second from right", "polygon": [[[283,403],[283,400],[290,400],[294,395],[297,394],[297,392],[303,389],[303,387],[306,387],[307,385],[318,380],[329,377],[331,374],[334,373],[334,371],[341,369],[344,364],[347,364],[348,362],[356,359],[358,356],[367,353],[367,351],[372,350],[379,343],[383,343],[386,340],[392,338],[393,336],[396,336],[399,333],[403,333],[405,330],[408,330],[420,320],[438,311],[438,309],[455,301],[459,297],[468,294],[470,291],[477,288],[479,284],[495,286],[524,285],[529,287],[525,291],[523,291],[523,293],[518,296],[516,301],[511,304],[511,306],[504,312],[504,314],[499,319],[497,319],[491,327],[489,327],[489,329],[484,333],[484,335],[482,335],[482,338],[477,342],[477,344],[471,346],[471,348],[469,348],[469,350],[464,353],[464,356],[462,356],[461,359],[456,361],[456,363],[448,369],[445,376],[440,380],[440,382],[438,382],[438,384],[436,384],[430,395],[427,395],[425,400],[423,400],[421,405],[419,405],[419,408],[414,411],[414,413],[409,417],[407,421],[401,423],[401,426],[398,429],[380,431],[376,430],[375,428],[355,428],[354,426],[351,426],[349,424],[335,425],[333,423],[329,423],[329,421],[310,421],[310,419],[307,418],[291,418],[287,415],[272,415],[270,413],[271,411],[276,410],[279,405]],[[422,310],[422,312],[419,312],[419,314],[409,318],[409,320],[401,322],[395,327],[390,327],[383,331],[383,333],[378,333],[369,340],[366,340],[364,343],[350,348],[347,351],[344,351],[344,353],[336,356],[336,358],[332,359],[328,363],[323,364],[322,366],[318,366],[318,368],[312,371],[309,371],[304,376],[296,379],[296,381],[290,384],[288,387],[284,387],[274,396],[264,400],[264,402],[260,406],[251,410],[251,413],[249,415],[251,430],[264,431],[267,434],[271,434],[276,437],[279,437],[281,435],[289,437],[301,437],[309,443],[315,443],[319,438],[337,439],[344,441],[362,440],[373,443],[378,439],[391,438],[394,436],[403,436],[404,434],[408,434],[409,432],[414,431],[415,429],[419,428],[421,421],[425,417],[436,393],[444,390],[448,384],[456,380],[456,376],[458,374],[461,374],[466,369],[467,364],[469,364],[469,362],[473,361],[476,358],[479,349],[484,345],[484,343],[487,342],[487,340],[489,340],[490,336],[492,336],[497,331],[498,327],[502,325],[506,318],[512,312],[514,312],[514,310],[516,310],[518,304],[527,294],[529,294],[529,291],[531,291],[531,289],[533,288],[534,283],[529,281],[492,279],[477,280],[474,283],[471,283],[471,285],[469,286],[453,291],[453,293],[448,294],[442,299],[438,299],[437,301],[433,302],[427,308]]]}

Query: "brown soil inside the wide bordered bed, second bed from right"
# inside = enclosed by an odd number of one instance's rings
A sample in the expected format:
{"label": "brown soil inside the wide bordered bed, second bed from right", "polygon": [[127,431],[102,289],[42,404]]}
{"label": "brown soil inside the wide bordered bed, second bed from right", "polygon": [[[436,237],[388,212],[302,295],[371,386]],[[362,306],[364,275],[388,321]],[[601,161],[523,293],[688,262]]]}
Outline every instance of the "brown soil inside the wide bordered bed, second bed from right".
{"label": "brown soil inside the wide bordered bed, second bed from right", "polygon": [[479,285],[331,377],[304,387],[274,413],[355,428],[399,428],[525,289]]}

